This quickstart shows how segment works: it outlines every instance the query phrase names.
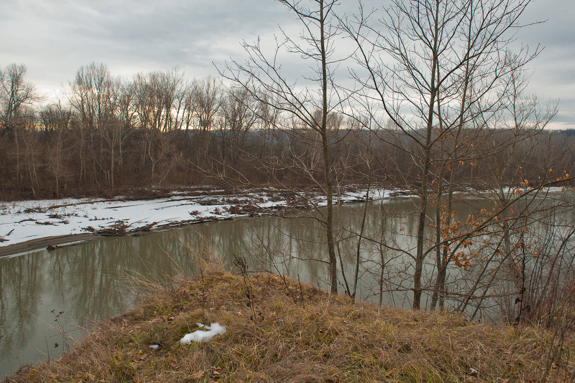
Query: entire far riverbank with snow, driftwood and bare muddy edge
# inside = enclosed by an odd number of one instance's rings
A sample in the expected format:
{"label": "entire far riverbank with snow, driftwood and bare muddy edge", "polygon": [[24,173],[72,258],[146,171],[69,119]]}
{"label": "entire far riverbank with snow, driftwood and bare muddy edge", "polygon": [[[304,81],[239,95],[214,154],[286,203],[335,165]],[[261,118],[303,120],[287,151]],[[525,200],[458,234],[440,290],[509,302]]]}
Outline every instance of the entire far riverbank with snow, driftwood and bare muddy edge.
{"label": "entire far riverbank with snow, driftwood and bare muddy edge", "polygon": [[[537,190],[537,189],[535,189]],[[562,188],[543,189],[545,194]],[[478,198],[487,191],[469,191]],[[515,193],[506,188],[505,193]],[[459,192],[461,194],[466,192]],[[139,199],[148,196],[148,199]],[[408,189],[371,187],[370,200],[413,196]],[[362,202],[366,188],[335,191],[335,203]],[[151,230],[260,215],[286,215],[323,207],[317,189],[221,189],[209,186],[178,191],[132,192],[114,198],[64,198],[0,202],[0,257],[41,248],[76,244],[98,236],[140,235]]]}

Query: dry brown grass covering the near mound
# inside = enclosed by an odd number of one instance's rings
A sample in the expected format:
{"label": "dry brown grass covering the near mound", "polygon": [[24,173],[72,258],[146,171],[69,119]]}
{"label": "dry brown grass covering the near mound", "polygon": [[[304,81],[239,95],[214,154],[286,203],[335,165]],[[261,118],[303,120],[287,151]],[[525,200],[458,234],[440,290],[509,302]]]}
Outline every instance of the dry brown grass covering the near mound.
{"label": "dry brown grass covering the near mound", "polygon": [[[534,328],[380,310],[310,286],[300,290],[297,281],[285,284],[274,275],[249,282],[255,320],[241,277],[186,280],[102,323],[70,354],[6,381],[531,382],[549,344]],[[305,308],[294,299],[301,294]],[[219,322],[228,332],[208,343],[179,344],[196,322]],[[150,350],[156,343],[162,347]],[[573,349],[566,347],[563,361],[573,361]]]}

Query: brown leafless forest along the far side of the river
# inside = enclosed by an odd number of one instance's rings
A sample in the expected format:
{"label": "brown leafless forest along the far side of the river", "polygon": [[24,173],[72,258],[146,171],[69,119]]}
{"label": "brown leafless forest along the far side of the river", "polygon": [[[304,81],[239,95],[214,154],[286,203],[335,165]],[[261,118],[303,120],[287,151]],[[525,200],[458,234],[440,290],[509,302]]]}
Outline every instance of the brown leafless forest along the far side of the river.
{"label": "brown leafless forest along the far side of the river", "polygon": [[[220,78],[190,80],[177,69],[116,78],[105,64],[91,63],[78,69],[66,100],[46,104],[26,81],[24,65],[0,68],[0,75],[2,199],[322,183],[321,136],[274,107],[273,93],[255,96]],[[481,189],[493,177],[497,184],[536,185],[549,169],[569,172],[575,130],[545,130],[536,111],[522,117],[514,124],[467,122],[457,136],[440,134],[438,124],[430,181],[448,170],[458,188]],[[353,110],[328,114],[335,185],[421,184],[417,144],[425,132],[381,119],[369,122]]]}

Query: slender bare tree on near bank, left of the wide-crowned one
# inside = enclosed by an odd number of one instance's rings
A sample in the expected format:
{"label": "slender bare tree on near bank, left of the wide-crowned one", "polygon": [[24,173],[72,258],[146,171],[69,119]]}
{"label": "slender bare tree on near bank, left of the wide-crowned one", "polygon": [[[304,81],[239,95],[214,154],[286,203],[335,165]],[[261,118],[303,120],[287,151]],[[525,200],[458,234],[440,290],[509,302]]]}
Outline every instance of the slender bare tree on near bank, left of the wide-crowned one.
{"label": "slender bare tree on near bank, left of the wide-crowned one", "polygon": [[[328,116],[342,107],[333,85],[332,67],[335,63],[333,40],[336,29],[332,24],[335,0],[301,1],[279,0],[293,12],[304,28],[300,39],[283,34],[283,41],[277,45],[275,54],[267,56],[259,41],[243,43],[249,55],[246,63],[232,62],[224,77],[231,79],[244,89],[260,105],[277,111],[282,117],[281,125],[288,135],[297,135],[304,143],[304,151],[297,152],[287,147],[289,161],[279,153],[271,161],[251,157],[259,169],[272,173],[273,169],[285,169],[305,177],[318,185],[327,197],[325,216],[320,218],[325,229],[328,249],[329,285],[331,291],[338,291],[335,224],[333,218],[333,167],[330,147],[333,137],[328,128]],[[309,60],[313,74],[307,79],[309,86],[299,86],[287,79],[283,67],[277,62],[278,53],[286,49]],[[312,86],[312,84],[314,84]],[[315,89],[313,88],[315,87]],[[273,101],[273,102],[272,102]],[[268,113],[274,115],[275,113]],[[279,124],[278,124],[279,125]]]}

